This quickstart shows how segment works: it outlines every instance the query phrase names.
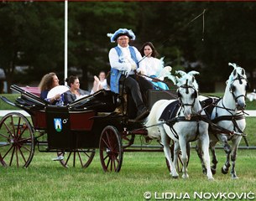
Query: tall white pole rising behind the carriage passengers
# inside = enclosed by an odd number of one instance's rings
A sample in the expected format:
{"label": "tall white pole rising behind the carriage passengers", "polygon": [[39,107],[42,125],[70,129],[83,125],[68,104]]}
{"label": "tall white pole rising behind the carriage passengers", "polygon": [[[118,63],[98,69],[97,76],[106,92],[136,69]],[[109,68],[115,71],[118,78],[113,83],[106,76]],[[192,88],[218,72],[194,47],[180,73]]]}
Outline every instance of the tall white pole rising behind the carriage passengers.
{"label": "tall white pole rising behind the carriage passengers", "polygon": [[[65,64],[64,64],[64,80],[67,78],[67,57],[68,57],[68,0],[65,0]],[[67,85],[67,83],[65,83]]]}

